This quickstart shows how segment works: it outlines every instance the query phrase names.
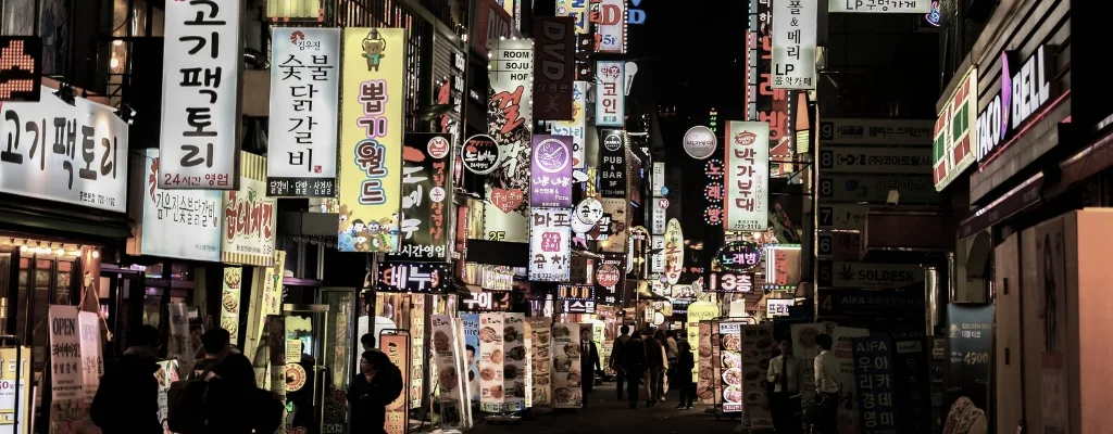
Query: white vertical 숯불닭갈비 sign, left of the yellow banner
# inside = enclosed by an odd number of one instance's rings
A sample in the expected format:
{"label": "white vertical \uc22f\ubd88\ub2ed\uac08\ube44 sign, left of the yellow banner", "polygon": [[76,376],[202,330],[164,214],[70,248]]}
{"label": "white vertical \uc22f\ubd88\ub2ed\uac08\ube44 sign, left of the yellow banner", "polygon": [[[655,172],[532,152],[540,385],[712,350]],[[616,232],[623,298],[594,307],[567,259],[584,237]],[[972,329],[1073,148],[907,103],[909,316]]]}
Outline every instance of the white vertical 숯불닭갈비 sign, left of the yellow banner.
{"label": "white vertical \uc22f\ubd88\ub2ed\uac08\ube44 sign, left of the yellow banner", "polygon": [[341,29],[276,27],[270,46],[267,195],[336,195]]}

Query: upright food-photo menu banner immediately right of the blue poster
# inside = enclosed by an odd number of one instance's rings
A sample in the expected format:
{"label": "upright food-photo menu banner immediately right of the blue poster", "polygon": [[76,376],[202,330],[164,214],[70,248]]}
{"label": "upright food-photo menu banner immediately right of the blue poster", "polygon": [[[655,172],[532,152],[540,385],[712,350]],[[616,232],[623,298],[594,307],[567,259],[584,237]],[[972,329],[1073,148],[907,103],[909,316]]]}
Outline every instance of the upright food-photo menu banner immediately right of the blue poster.
{"label": "upright food-photo menu banner immediately right of the blue poster", "polygon": [[506,411],[503,346],[503,314],[480,314],[480,410],[487,413]]}

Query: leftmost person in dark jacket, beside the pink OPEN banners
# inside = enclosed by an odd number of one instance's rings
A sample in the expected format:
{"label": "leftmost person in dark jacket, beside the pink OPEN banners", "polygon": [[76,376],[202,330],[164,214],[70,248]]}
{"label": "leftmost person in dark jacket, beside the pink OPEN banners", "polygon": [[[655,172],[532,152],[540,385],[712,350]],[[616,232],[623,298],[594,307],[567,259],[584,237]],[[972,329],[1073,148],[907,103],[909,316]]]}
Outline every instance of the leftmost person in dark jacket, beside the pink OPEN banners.
{"label": "leftmost person in dark jacket, beside the pink OPEN banners", "polygon": [[144,325],[128,350],[100,379],[89,416],[105,434],[161,434],[158,418],[158,329]]}

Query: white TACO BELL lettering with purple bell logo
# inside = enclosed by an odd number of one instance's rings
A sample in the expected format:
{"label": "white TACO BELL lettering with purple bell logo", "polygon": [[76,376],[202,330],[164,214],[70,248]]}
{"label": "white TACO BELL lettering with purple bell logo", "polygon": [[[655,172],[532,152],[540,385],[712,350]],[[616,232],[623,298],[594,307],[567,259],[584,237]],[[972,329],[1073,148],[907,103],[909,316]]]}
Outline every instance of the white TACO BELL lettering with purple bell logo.
{"label": "white TACO BELL lettering with purple bell logo", "polygon": [[1012,51],[1001,53],[1001,93],[977,117],[977,161],[994,153],[1047,101],[1051,101],[1054,54],[1040,46],[1023,64],[1009,60]]}

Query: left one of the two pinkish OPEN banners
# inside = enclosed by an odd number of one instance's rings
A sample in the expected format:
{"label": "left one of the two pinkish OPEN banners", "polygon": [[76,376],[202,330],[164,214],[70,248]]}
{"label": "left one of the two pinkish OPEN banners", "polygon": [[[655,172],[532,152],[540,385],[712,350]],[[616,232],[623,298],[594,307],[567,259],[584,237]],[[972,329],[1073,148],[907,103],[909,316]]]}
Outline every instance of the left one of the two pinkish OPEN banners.
{"label": "left one of the two pinkish OPEN banners", "polygon": [[[89,422],[81,369],[81,336],[75,306],[51,305],[50,326],[50,434],[97,430]],[[97,430],[99,431],[99,430]]]}

